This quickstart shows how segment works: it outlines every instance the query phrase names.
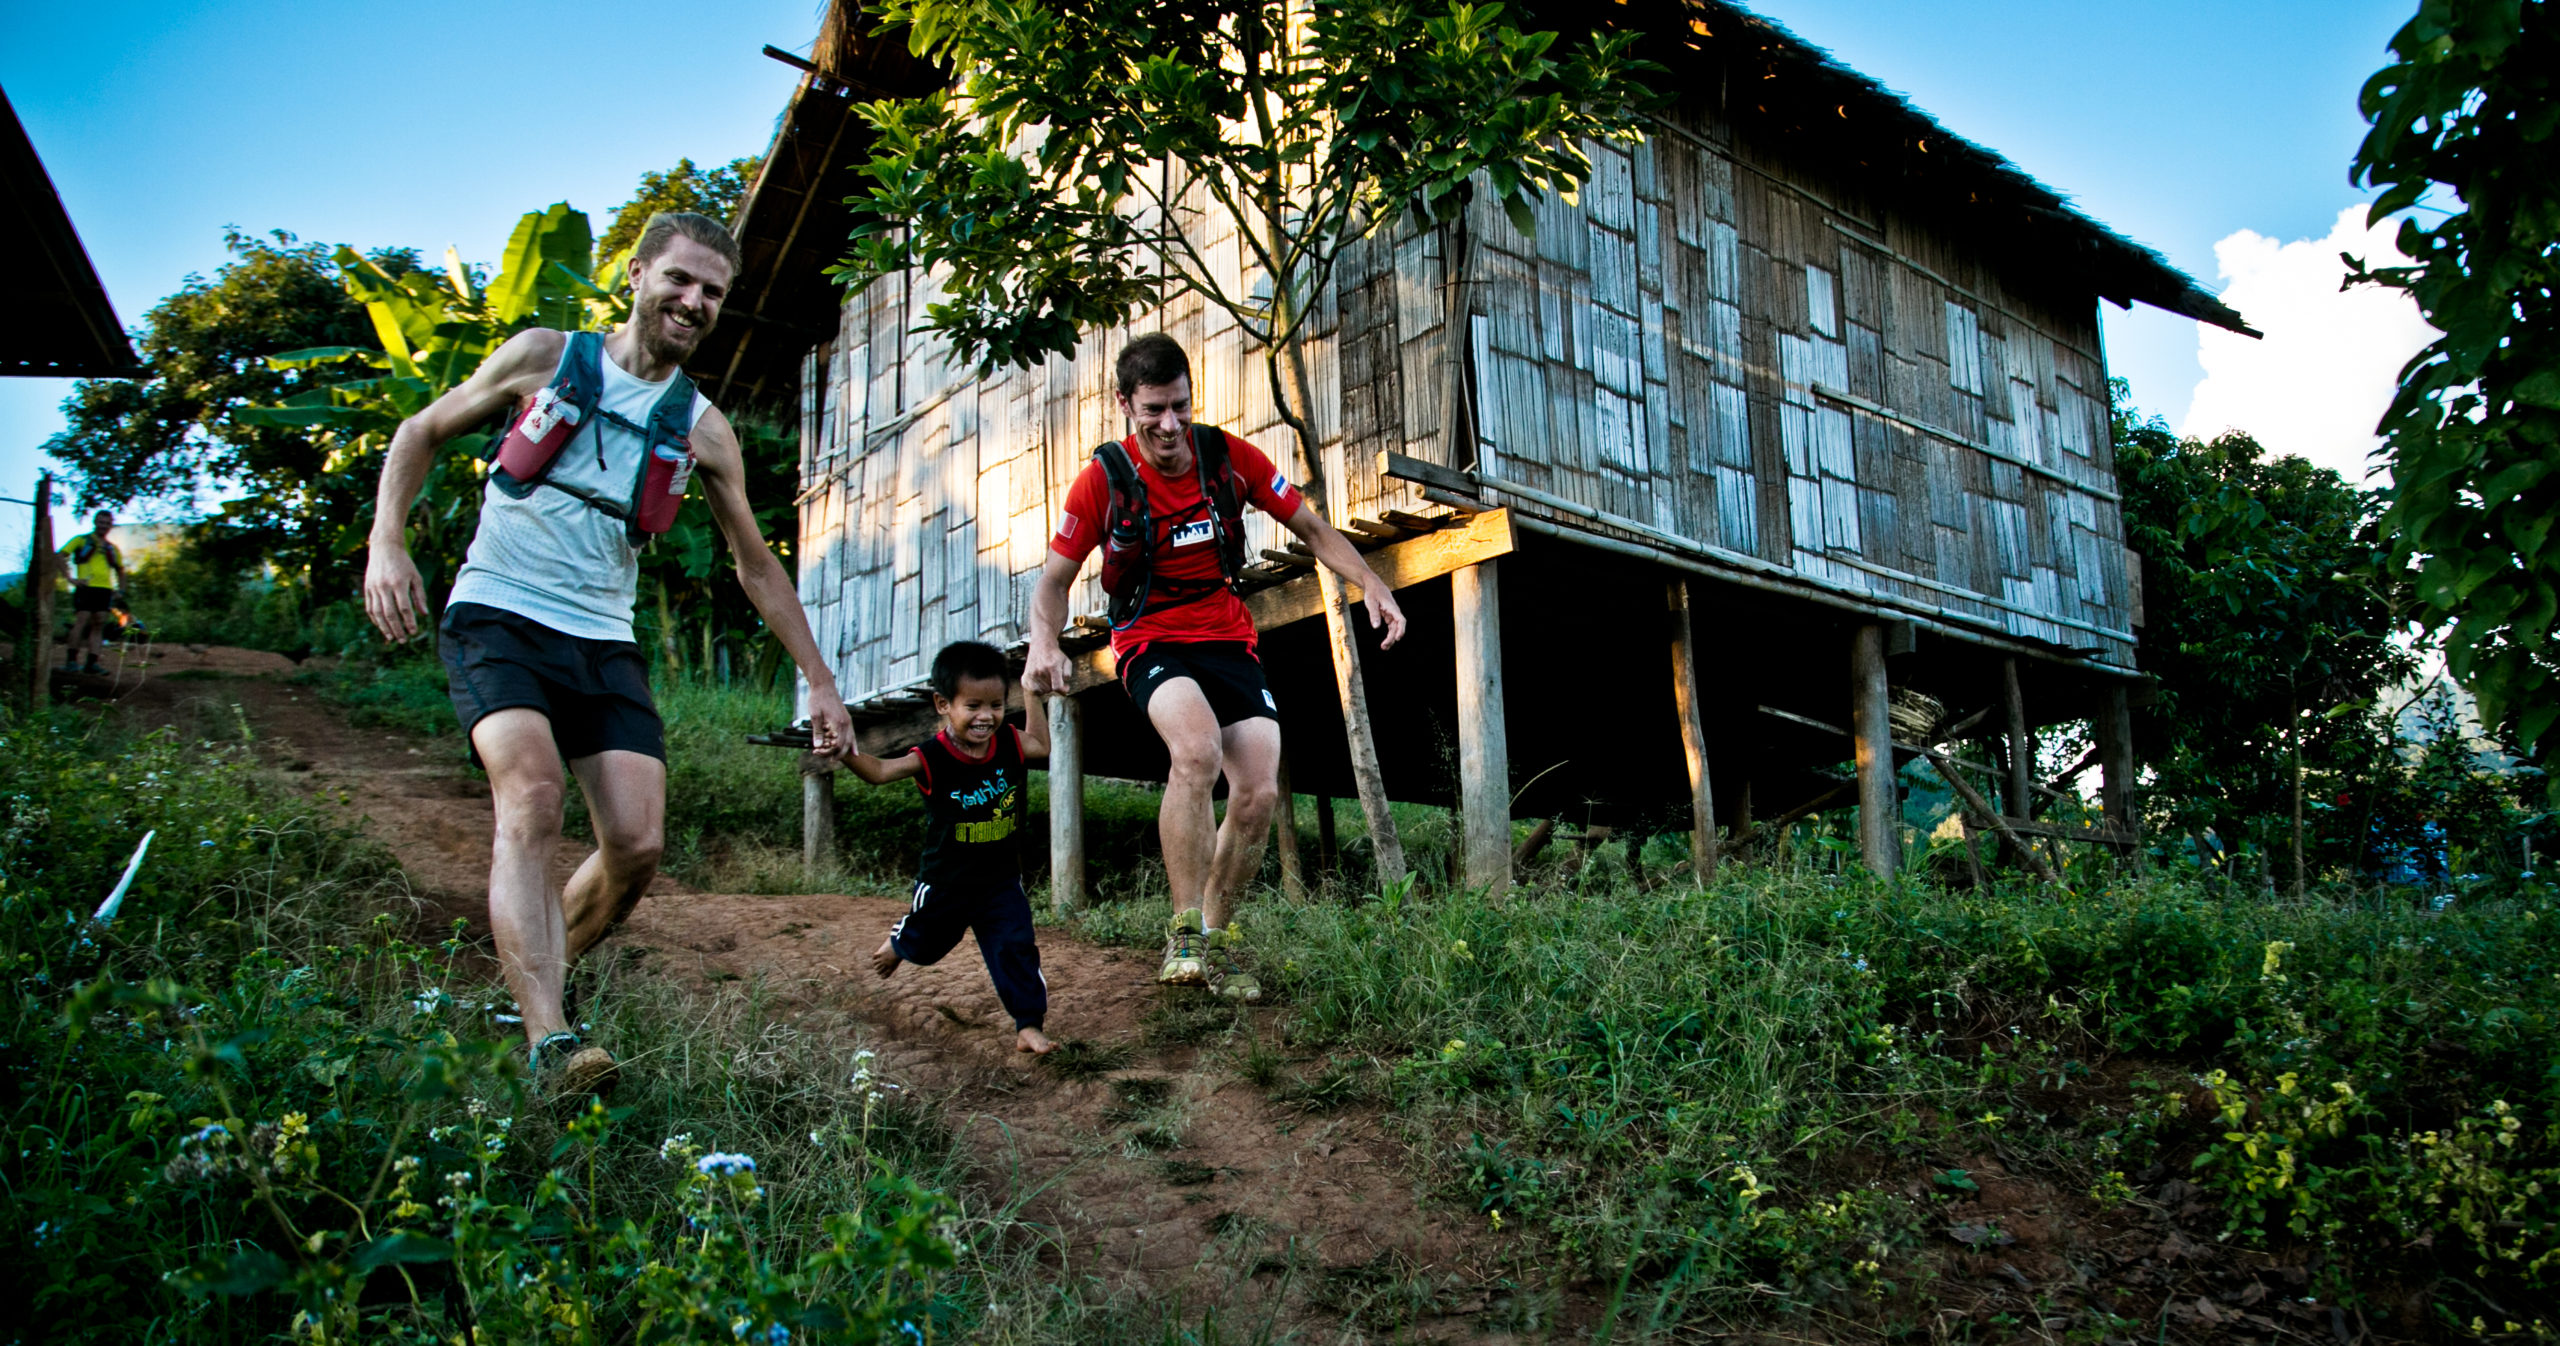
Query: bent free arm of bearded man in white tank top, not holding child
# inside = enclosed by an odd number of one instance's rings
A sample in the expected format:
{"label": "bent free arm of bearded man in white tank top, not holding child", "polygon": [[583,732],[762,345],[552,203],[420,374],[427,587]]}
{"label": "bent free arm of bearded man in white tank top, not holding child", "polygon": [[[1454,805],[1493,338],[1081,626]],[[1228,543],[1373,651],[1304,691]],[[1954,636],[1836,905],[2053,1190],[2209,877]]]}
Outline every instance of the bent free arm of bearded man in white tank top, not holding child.
{"label": "bent free arm of bearded man in white tank top, not holding child", "polygon": [[410,640],[417,635],[417,619],[428,614],[428,586],[410,560],[410,507],[428,484],[435,453],[453,435],[550,381],[566,343],[568,335],[550,328],[515,333],[468,379],[392,432],[392,453],[374,489],[374,532],[364,560],[364,614],[384,640]]}

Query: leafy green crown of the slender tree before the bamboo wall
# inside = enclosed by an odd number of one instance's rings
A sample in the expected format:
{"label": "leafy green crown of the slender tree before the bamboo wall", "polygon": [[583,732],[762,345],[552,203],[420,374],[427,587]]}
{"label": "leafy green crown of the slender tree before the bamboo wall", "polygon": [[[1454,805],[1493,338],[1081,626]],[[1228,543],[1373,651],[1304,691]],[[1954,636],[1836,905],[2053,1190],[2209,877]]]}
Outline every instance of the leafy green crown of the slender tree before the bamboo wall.
{"label": "leafy green crown of the slender tree before the bamboo wall", "polygon": [[[863,107],[878,141],[837,271],[937,271],[924,328],[980,371],[1172,294],[1290,358],[1344,243],[1444,220],[1477,184],[1533,228],[1531,202],[1590,174],[1580,143],[1633,138],[1651,97],[1633,36],[1559,56],[1503,5],[896,0],[881,20],[965,74]],[[1183,228],[1190,192],[1239,233],[1242,269]],[[1270,371],[1313,461],[1303,371]]]}

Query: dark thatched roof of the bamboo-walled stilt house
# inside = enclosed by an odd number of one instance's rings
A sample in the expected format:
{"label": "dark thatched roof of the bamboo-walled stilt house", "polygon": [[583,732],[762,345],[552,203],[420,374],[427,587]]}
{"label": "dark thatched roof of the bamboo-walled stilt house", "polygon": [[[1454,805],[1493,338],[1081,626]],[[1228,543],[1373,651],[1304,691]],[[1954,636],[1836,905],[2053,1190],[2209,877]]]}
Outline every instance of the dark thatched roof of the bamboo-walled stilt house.
{"label": "dark thatched roof of the bamboo-walled stilt house", "polygon": [[[1876,79],[1848,69],[1784,26],[1725,0],[1618,0],[1615,5],[1526,0],[1526,18],[1554,28],[1633,28],[1641,54],[1672,69],[1667,82],[1743,138],[1810,154],[1869,194],[1892,194],[2002,258],[2025,258],[2099,297],[2253,333],[2240,315],[2068,197],[1999,154],[1956,136]],[[742,302],[694,358],[694,376],[727,402],[773,402],[796,389],[799,361],[835,335],[842,292],[824,269],[842,256],[865,128],[855,100],[914,97],[942,74],[901,41],[863,36],[855,0],[835,0],[809,67],[773,136],[773,151],[740,207],[748,253]],[[1984,72],[1997,79],[1997,69]]]}

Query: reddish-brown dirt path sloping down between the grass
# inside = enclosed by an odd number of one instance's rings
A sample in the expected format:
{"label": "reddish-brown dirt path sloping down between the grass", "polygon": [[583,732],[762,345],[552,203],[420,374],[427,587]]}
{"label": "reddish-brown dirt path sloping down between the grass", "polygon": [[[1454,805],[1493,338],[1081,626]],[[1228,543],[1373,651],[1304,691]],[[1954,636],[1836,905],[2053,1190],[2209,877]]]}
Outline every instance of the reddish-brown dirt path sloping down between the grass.
{"label": "reddish-brown dirt path sloping down between the grass", "polygon": [[[271,763],[399,857],[433,924],[461,916],[486,939],[489,796],[456,740],[358,729],[287,673],[279,655],[174,653],[128,670],[120,701],[179,727],[238,706]],[[788,760],[776,755],[776,770]],[[563,844],[556,878],[586,852]],[[1234,1044],[1196,1041],[1211,1021],[1224,1029],[1224,1013],[1160,993],[1142,952],[1057,931],[1042,934],[1050,1031],[1108,1070],[1034,1065],[1014,1052],[975,944],[934,967],[870,975],[868,952],[904,908],[901,896],[699,893],[660,878],[589,957],[620,952],[707,995],[763,983],[804,1029],[845,1031],[847,1054],[873,1047],[891,1080],[942,1103],[988,1159],[983,1180],[998,1198],[1032,1192],[1024,1213],[1062,1233],[1075,1274],[1236,1305],[1267,1300],[1295,1264],[1280,1313],[1318,1326],[1318,1338],[1367,1341],[1347,1320],[1403,1341],[1485,1338],[1477,1318],[1508,1267],[1472,1246],[1472,1221],[1413,1187],[1375,1111],[1308,1116],[1272,1103],[1236,1075]],[[1262,1041],[1275,1018],[1249,1016]],[[1421,1315],[1388,1310],[1416,1297],[1428,1305]]]}

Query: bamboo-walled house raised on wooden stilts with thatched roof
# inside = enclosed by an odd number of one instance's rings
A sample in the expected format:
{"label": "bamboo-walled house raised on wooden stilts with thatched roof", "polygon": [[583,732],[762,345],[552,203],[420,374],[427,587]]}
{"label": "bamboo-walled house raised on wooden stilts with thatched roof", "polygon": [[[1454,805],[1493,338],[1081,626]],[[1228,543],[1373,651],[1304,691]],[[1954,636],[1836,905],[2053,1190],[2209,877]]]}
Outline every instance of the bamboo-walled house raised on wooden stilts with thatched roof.
{"label": "bamboo-walled house raised on wooden stilts with thatched roof", "polygon": [[[1718,827],[1864,804],[1889,867],[1897,760],[2004,740],[2007,778],[1981,788],[2002,804],[1981,804],[2025,827],[2025,737],[2089,719],[2130,827],[2140,558],[2097,305],[2240,315],[1774,23],[1713,0],[1613,18],[1682,90],[1649,141],[1597,148],[1533,238],[1477,207],[1359,246],[1321,297],[1326,499],[1413,617],[1364,658],[1388,791],[1462,804],[1480,883],[1505,880],[1513,816],[1567,811],[1692,832],[1705,865]],[[819,269],[860,159],[847,100],[932,74],[852,38],[814,64],[742,215],[745,320],[696,374],[714,397],[796,392],[801,599],[865,742],[896,747],[924,732],[942,642],[1024,637],[1068,481],[1124,432],[1126,338],[1172,333],[1203,420],[1285,463],[1295,445],[1260,353],[1198,302],[991,379],[914,335],[932,276],[837,305]],[[1236,238],[1198,243],[1244,274]],[[1288,770],[1344,796],[1308,560],[1257,527]],[[1101,606],[1088,571],[1075,612]],[[1060,773],[1160,775],[1108,650],[1080,645]]]}

